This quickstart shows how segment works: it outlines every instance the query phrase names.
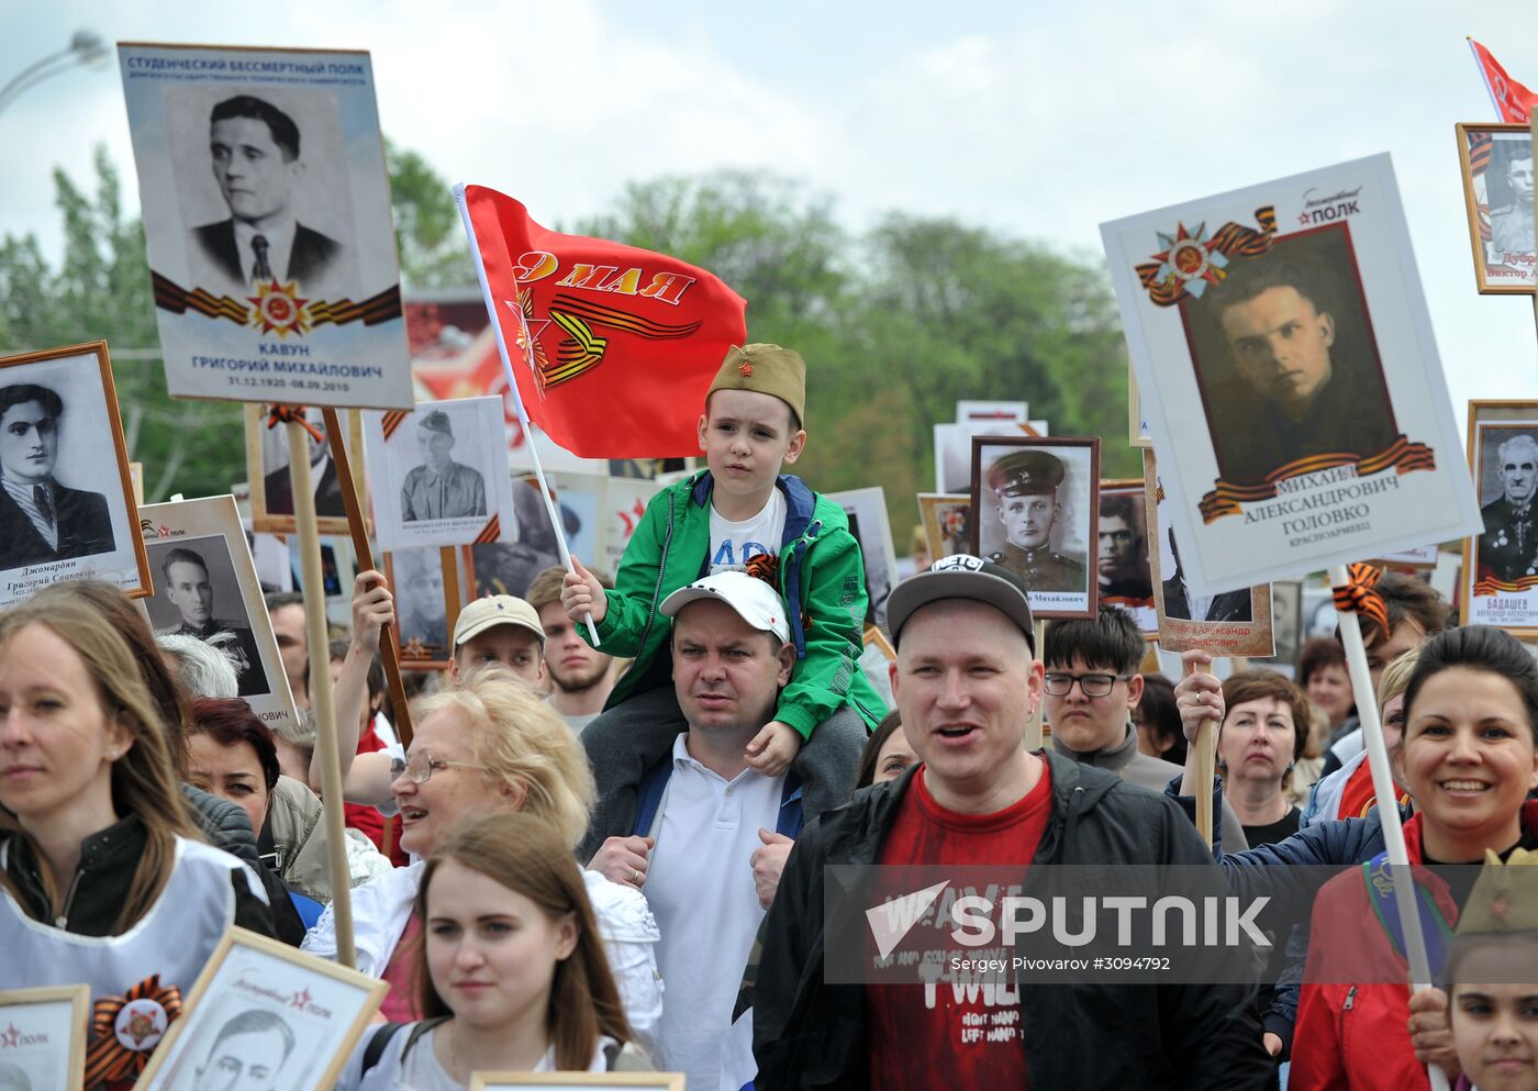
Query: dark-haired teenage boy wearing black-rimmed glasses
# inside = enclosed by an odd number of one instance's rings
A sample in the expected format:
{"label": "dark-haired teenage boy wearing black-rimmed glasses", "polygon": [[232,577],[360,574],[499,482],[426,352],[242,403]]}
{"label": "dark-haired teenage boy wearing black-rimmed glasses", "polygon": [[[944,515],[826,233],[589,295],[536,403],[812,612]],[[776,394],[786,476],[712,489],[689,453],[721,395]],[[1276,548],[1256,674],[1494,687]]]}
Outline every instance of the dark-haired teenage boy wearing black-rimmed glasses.
{"label": "dark-haired teenage boy wearing black-rimmed glasses", "polygon": [[[1043,642],[1043,705],[1052,749],[1115,772],[1129,785],[1163,792],[1180,766],[1138,749],[1132,714],[1143,697],[1143,632],[1132,614],[1101,606],[1098,617],[1052,622]],[[1223,802],[1223,846],[1243,831]],[[1232,832],[1230,832],[1232,831]],[[1247,848],[1247,843],[1246,843]]]}

